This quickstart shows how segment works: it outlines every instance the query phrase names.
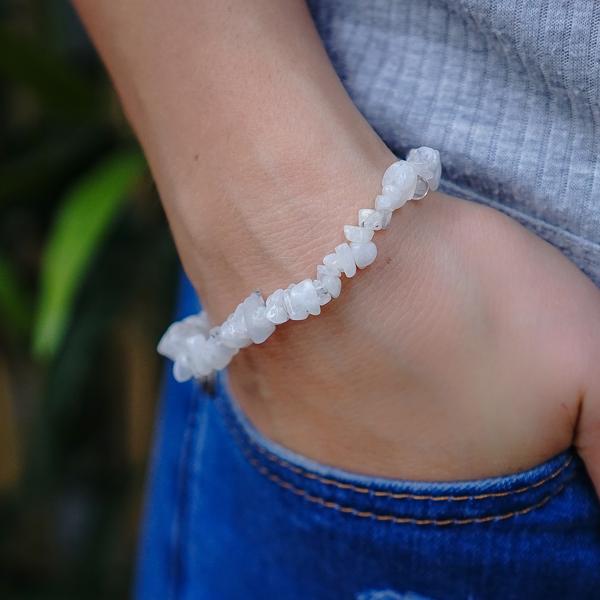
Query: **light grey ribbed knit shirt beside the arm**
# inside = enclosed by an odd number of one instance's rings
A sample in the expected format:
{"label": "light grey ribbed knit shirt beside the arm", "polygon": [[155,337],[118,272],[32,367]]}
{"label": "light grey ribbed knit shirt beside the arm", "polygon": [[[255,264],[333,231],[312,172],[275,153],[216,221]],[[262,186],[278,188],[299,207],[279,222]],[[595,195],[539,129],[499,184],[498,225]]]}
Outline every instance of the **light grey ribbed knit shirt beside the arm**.
{"label": "light grey ribbed knit shirt beside the arm", "polygon": [[600,285],[600,2],[310,0],[355,104]]}

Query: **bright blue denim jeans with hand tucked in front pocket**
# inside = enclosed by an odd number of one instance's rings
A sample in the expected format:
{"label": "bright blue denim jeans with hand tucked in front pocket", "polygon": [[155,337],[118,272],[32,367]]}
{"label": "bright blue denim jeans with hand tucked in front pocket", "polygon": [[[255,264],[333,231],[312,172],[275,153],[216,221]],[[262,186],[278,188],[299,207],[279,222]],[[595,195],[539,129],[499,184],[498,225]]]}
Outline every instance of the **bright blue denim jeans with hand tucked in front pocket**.
{"label": "bright blue denim jeans with hand tucked in front pocket", "polygon": [[600,597],[600,504],[571,449],[484,480],[358,476],[265,439],[223,376],[168,375],[159,425],[140,599]]}

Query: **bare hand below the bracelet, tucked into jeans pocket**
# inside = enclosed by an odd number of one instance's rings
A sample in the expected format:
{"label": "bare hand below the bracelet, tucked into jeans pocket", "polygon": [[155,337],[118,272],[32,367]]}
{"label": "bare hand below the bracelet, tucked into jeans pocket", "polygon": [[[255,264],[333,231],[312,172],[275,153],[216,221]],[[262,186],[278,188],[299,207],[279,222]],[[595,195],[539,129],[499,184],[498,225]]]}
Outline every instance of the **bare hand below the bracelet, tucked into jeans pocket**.
{"label": "bare hand below the bracelet, tucked into jeans pocket", "polygon": [[512,219],[441,194],[375,239],[375,263],[319,317],[234,359],[258,428],[328,464],[414,479],[505,474],[575,440],[598,486],[593,283]]}

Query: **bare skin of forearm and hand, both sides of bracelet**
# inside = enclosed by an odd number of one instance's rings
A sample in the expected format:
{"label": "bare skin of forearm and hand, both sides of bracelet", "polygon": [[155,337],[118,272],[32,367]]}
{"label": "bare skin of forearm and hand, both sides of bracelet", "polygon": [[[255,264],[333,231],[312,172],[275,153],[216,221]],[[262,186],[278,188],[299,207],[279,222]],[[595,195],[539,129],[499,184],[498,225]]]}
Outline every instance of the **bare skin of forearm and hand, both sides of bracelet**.
{"label": "bare skin of forearm and hand, both sides of bracelet", "polygon": [[[303,2],[75,5],[211,320],[312,275],[394,156]],[[600,489],[598,288],[515,221],[438,193],[375,241],[321,316],[234,359],[255,425],[328,464],[422,480],[505,474],[574,443]]]}

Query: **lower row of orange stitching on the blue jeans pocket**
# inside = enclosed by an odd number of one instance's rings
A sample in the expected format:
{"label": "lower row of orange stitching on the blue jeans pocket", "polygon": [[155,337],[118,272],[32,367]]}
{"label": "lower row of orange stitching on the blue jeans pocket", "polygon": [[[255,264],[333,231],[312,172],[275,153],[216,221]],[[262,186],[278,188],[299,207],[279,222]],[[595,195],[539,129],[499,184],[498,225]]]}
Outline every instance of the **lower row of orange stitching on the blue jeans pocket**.
{"label": "lower row of orange stitching on the blue jeans pocket", "polygon": [[302,490],[297,488],[295,485],[291,484],[289,481],[284,481],[274,473],[269,472],[269,470],[261,465],[253,456],[250,456],[244,448],[243,443],[240,446],[242,452],[248,459],[248,461],[254,466],[258,472],[267,477],[267,479],[273,481],[280,487],[292,492],[296,496],[300,496],[309,502],[313,502],[314,504],[318,504],[325,508],[329,508],[332,510],[337,510],[338,512],[351,514],[355,517],[360,517],[364,519],[374,519],[375,521],[388,521],[390,523],[395,524],[411,524],[411,525],[469,525],[474,523],[489,523],[490,521],[503,521],[505,519],[510,519],[511,517],[516,517],[518,515],[525,515],[537,508],[541,508],[545,504],[547,504],[553,497],[558,496],[564,489],[566,482],[562,483],[556,490],[554,490],[551,494],[548,494],[544,498],[542,498],[539,502],[532,504],[531,506],[526,506],[525,508],[521,508],[519,510],[514,510],[509,513],[504,513],[500,515],[488,515],[485,517],[471,517],[468,519],[412,519],[409,517],[397,517],[395,515],[382,515],[378,513],[374,513],[371,511],[360,511],[352,506],[343,506],[338,504],[337,502],[332,502],[330,500],[325,500],[324,498],[320,498],[319,496],[313,496],[309,494],[306,490]]}

